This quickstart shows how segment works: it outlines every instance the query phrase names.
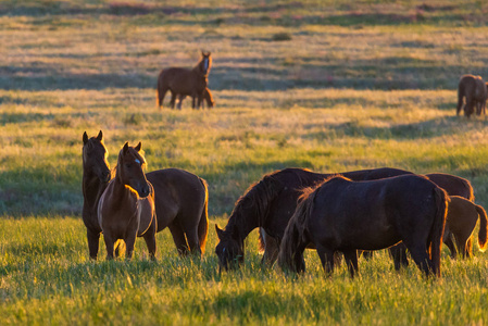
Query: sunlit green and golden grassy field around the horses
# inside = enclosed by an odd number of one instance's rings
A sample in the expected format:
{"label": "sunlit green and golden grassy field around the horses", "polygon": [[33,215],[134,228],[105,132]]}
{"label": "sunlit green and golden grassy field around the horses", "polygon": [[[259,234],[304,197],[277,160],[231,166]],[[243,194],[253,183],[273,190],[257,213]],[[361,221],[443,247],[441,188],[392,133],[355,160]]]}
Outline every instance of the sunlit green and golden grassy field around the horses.
{"label": "sunlit green and golden grassy field around the horses", "polygon": [[[0,2],[0,316],[10,324],[488,323],[488,258],[443,276],[396,273],[386,253],[325,278],[246,264],[220,274],[214,223],[263,174],[392,166],[468,178],[488,208],[488,121],[455,115],[462,74],[488,78],[488,4],[458,1]],[[320,2],[320,3],[318,3]],[[212,51],[211,111],[155,106],[166,66]],[[166,98],[165,103],[168,102]],[[142,141],[148,170],[209,183],[201,261],[167,230],[158,262],[88,261],[82,135],[104,131],[109,162]],[[475,247],[477,250],[477,247]]]}

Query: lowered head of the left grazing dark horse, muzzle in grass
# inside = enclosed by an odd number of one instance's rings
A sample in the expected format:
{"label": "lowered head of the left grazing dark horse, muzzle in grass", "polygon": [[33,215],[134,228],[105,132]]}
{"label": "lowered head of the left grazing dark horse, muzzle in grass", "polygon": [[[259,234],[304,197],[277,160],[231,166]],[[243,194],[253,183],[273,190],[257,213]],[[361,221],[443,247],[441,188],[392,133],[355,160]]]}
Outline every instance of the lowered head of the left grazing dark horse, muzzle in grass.
{"label": "lowered head of the left grazing dark horse, muzzle in grass", "polygon": [[232,237],[230,234],[221,229],[215,224],[218,237],[218,244],[215,247],[215,254],[218,256],[220,267],[224,269],[236,268],[243,262],[243,246]]}

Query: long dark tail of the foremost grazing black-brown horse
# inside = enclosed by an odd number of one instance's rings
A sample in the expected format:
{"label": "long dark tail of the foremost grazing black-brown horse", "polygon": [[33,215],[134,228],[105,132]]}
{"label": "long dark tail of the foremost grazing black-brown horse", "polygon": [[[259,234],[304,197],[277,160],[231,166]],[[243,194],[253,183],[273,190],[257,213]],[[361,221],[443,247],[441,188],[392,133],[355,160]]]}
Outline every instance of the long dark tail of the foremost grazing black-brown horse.
{"label": "long dark tail of the foremost grazing black-brown horse", "polygon": [[442,247],[443,228],[448,214],[449,197],[446,191],[439,187],[434,189],[434,198],[437,206],[433,228],[430,229],[430,259],[433,261],[433,272],[440,277],[440,249]]}

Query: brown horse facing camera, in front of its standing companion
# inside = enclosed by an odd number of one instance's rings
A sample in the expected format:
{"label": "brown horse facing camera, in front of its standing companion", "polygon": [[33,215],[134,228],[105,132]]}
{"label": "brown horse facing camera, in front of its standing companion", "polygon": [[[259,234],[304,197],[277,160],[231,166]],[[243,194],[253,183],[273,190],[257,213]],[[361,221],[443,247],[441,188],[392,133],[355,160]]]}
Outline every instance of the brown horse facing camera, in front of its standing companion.
{"label": "brown horse facing camera, in front of its standing companion", "polygon": [[136,237],[143,237],[149,255],[155,259],[157,217],[154,190],[146,179],[146,160],[140,142],[129,147],[126,142],[118,153],[115,176],[98,203],[98,222],[103,231],[107,259],[114,256],[118,240],[124,240],[126,256],[134,252]]}

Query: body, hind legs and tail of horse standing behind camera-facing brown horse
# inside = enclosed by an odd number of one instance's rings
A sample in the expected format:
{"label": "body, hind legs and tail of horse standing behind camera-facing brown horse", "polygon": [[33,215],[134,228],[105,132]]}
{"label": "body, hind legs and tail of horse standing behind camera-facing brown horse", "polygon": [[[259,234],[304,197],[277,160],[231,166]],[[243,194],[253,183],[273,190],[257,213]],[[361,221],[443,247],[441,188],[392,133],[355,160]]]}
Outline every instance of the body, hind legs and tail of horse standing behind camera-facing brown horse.
{"label": "body, hind legs and tail of horse standing behind camera-facing brown horse", "polygon": [[170,228],[180,255],[201,255],[209,233],[205,180],[179,168],[153,171],[146,177],[154,187],[158,231]]}

